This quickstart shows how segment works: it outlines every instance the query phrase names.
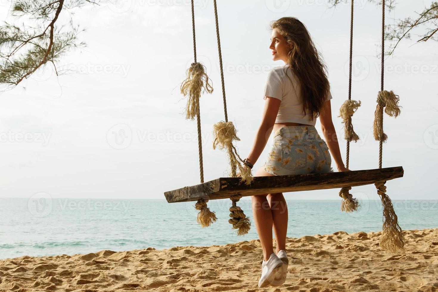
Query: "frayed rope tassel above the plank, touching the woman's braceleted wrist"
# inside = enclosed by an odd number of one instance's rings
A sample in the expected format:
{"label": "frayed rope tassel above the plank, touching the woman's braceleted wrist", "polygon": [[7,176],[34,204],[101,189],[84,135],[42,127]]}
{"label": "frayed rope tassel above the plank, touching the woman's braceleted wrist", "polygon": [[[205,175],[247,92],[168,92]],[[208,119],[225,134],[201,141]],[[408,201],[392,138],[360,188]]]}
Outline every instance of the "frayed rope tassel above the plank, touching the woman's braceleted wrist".
{"label": "frayed rope tassel above the plank, touching the woman's braceleted wrist", "polygon": [[[239,169],[240,176],[242,177],[240,182],[245,182],[246,185],[251,185],[251,181],[254,180],[251,169],[240,164],[243,160],[240,158],[239,154],[237,154],[237,149],[233,145],[234,140],[240,141],[236,132],[233,122],[220,121],[219,123],[215,123],[213,126],[213,137],[215,137],[215,140],[213,141],[213,149],[216,149],[216,147],[219,147],[220,150],[226,148],[231,166],[229,175],[232,177],[237,176],[237,169]],[[240,162],[237,159],[239,159]]]}

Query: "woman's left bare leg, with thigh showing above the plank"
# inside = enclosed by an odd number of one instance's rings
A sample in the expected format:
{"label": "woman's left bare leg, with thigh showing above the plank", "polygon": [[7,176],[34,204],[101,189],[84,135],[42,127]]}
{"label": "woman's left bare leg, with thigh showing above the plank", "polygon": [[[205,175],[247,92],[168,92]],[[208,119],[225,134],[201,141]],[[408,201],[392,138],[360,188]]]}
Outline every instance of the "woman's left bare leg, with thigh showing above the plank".
{"label": "woman's left bare leg, with thigh showing above the plank", "polygon": [[[254,176],[273,176],[266,172],[264,166],[261,166]],[[260,238],[261,248],[263,250],[263,259],[268,260],[274,252],[272,246],[272,210],[266,198],[268,194],[251,196],[252,215],[257,228],[258,237]]]}

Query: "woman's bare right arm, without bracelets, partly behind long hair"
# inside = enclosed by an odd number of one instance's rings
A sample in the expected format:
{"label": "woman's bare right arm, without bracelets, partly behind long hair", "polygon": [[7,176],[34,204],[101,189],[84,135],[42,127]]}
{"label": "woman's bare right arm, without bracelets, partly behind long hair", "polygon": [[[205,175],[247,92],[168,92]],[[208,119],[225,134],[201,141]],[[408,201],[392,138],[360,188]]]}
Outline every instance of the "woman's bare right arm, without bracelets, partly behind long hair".
{"label": "woman's bare right arm, without bracelets, partly behind long hair", "polygon": [[346,168],[342,161],[341,151],[339,150],[338,137],[336,136],[335,126],[332,121],[332,105],[330,100],[326,101],[322,106],[319,113],[319,121],[321,122],[321,131],[324,135],[325,142],[327,146],[329,146],[338,171],[345,171]]}

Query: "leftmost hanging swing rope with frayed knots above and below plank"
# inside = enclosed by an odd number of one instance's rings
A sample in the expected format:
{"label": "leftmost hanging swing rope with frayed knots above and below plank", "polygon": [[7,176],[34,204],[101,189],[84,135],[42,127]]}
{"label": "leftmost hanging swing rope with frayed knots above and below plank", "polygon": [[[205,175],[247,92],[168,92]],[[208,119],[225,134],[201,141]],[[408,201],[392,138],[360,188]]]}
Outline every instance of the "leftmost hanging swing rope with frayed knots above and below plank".
{"label": "leftmost hanging swing rope with frayed knots above and below plank", "polygon": [[[191,1],[192,10],[192,28],[193,28],[193,54],[194,63],[191,63],[189,69],[187,69],[187,77],[181,83],[181,93],[186,96],[187,106],[185,108],[186,119],[194,120],[194,116],[197,118],[198,125],[198,151],[199,151],[199,172],[201,176],[201,183],[204,183],[204,167],[202,162],[202,140],[201,140],[201,115],[199,111],[199,98],[201,97],[201,91],[205,93],[213,92],[212,85],[209,82],[207,74],[205,74],[205,66],[196,61],[196,36],[194,26],[194,3]],[[217,220],[214,212],[210,211],[207,207],[208,200],[199,199],[195,208],[199,210],[197,221],[202,227],[210,226],[211,223]]]}

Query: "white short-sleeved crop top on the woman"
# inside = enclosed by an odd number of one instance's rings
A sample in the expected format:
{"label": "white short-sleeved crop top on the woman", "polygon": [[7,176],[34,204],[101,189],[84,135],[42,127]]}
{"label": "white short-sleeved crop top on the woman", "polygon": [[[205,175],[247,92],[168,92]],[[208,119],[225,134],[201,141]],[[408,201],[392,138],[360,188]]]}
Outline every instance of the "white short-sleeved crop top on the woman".
{"label": "white short-sleeved crop top on the woman", "polygon": [[[285,67],[287,67],[287,75],[293,83],[284,73]],[[312,126],[316,124],[316,114],[313,121],[309,120],[307,115],[303,116],[303,102],[300,99],[300,92],[300,84],[288,65],[275,67],[269,71],[263,99],[270,96],[281,100],[276,123],[290,122]],[[325,101],[329,99],[332,99],[330,91]]]}

